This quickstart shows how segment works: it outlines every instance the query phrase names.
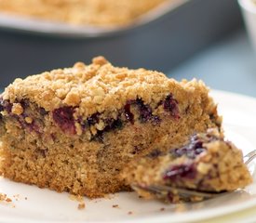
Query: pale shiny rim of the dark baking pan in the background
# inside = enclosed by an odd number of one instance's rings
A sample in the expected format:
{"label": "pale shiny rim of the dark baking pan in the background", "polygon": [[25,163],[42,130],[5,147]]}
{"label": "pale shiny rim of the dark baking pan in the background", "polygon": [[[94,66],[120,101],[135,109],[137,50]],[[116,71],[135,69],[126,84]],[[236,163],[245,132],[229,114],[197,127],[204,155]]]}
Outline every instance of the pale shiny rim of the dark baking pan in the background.
{"label": "pale shiny rim of the dark baking pan in the background", "polygon": [[26,18],[0,12],[0,27],[6,29],[20,30],[28,33],[44,33],[49,35],[72,36],[72,37],[97,37],[108,34],[120,33],[128,29],[146,24],[152,20],[164,16],[169,11],[181,6],[188,0],[168,0],[166,3],[155,7],[145,13],[133,23],[126,26],[95,27],[89,25],[70,25],[62,22]]}

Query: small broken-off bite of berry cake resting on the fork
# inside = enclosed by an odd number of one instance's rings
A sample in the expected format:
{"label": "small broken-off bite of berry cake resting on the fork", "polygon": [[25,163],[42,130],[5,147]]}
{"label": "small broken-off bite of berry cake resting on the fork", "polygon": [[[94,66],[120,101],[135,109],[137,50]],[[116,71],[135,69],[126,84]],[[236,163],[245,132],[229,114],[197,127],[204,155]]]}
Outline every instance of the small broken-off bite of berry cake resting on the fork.
{"label": "small broken-off bite of berry cake resting on the fork", "polygon": [[[160,195],[172,203],[203,199],[182,197],[175,188],[222,192],[243,188],[252,181],[242,152],[230,141],[225,141],[217,129],[193,135],[180,148],[167,152],[151,151],[128,164],[123,177],[128,184],[136,186],[135,190],[142,196],[154,198]],[[147,192],[151,186],[170,186],[174,190],[163,197],[163,194]]]}

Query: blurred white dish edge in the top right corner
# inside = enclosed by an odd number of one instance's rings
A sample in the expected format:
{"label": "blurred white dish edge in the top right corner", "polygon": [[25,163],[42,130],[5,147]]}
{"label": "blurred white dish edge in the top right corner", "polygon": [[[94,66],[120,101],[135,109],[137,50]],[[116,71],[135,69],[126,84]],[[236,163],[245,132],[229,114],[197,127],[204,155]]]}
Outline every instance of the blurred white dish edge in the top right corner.
{"label": "blurred white dish edge in the top right corner", "polygon": [[256,50],[256,1],[238,0],[245,24],[249,33],[249,39]]}

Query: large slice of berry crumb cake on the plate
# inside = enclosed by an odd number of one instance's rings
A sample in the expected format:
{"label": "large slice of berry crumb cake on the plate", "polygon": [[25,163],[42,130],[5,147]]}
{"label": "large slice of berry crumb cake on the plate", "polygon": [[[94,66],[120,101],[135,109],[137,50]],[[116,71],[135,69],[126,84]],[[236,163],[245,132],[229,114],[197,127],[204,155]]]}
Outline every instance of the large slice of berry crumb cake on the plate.
{"label": "large slice of berry crumb cake on the plate", "polygon": [[88,197],[128,190],[120,177],[128,162],[221,125],[201,81],[102,57],[16,79],[0,101],[4,177]]}

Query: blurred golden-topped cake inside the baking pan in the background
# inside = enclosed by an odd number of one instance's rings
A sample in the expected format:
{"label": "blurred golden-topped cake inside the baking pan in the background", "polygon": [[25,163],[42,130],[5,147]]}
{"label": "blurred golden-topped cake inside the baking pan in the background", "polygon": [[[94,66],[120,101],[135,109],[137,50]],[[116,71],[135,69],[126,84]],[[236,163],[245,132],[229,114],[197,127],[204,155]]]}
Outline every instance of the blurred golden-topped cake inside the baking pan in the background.
{"label": "blurred golden-topped cake inside the baking pan in the background", "polygon": [[169,0],[0,0],[0,11],[76,25],[126,25]]}

